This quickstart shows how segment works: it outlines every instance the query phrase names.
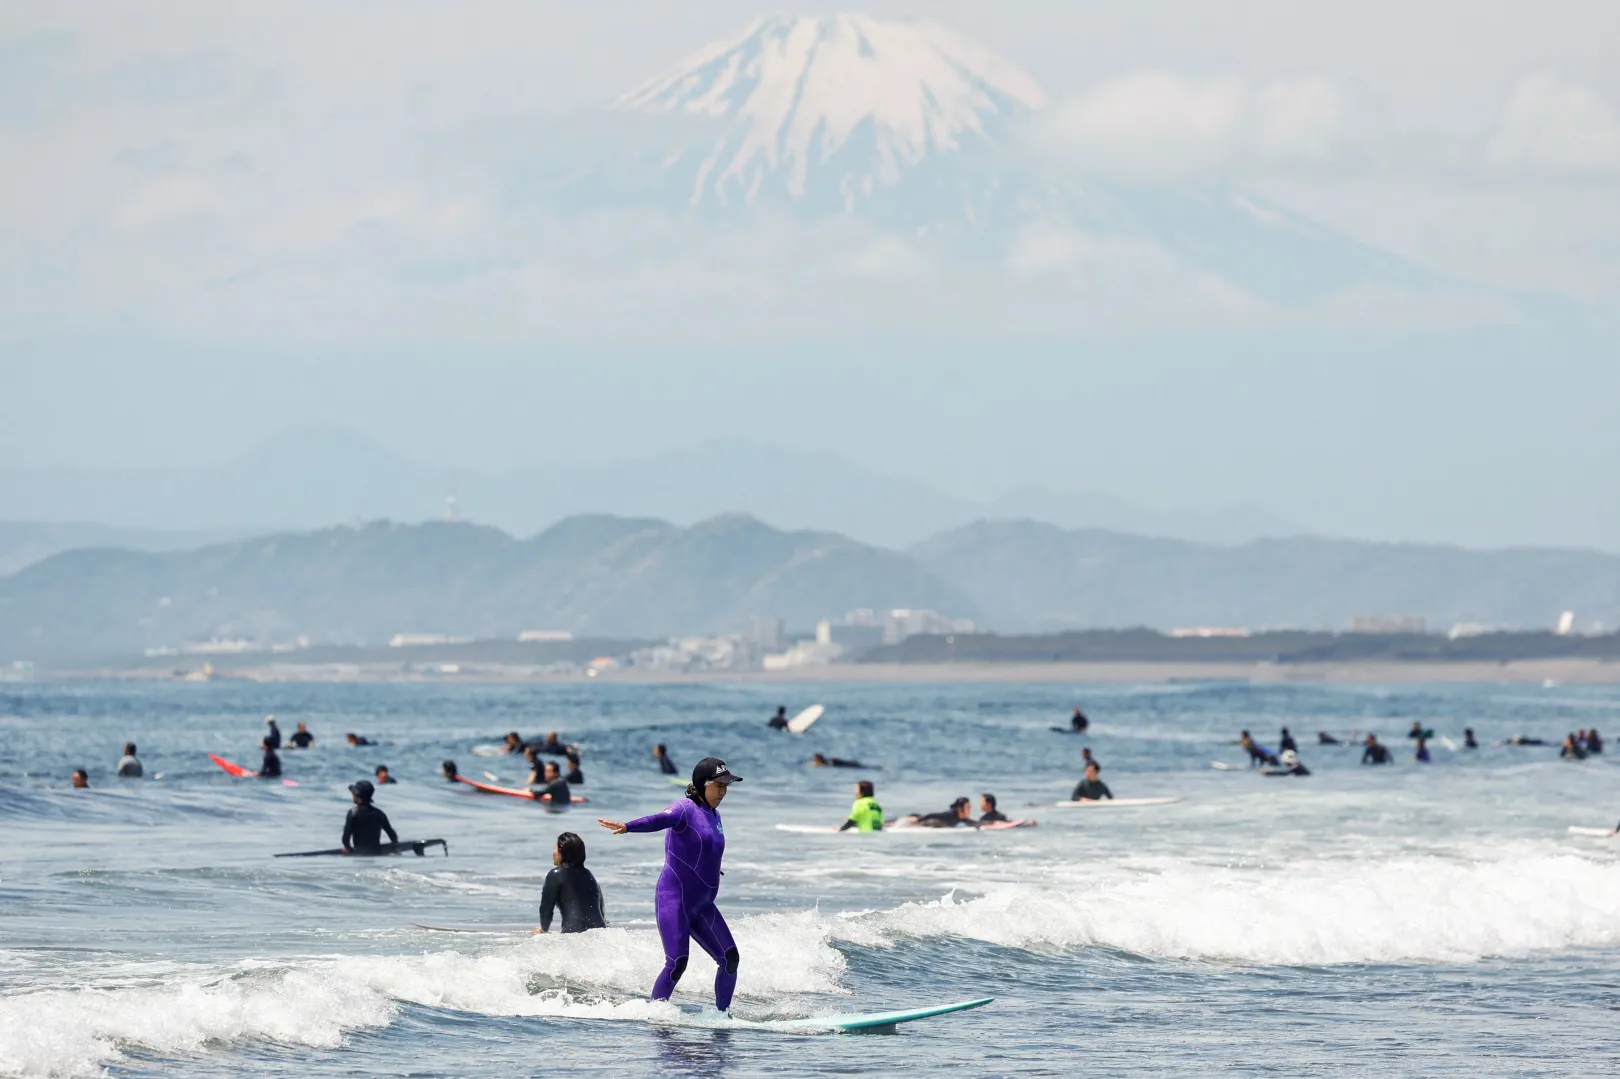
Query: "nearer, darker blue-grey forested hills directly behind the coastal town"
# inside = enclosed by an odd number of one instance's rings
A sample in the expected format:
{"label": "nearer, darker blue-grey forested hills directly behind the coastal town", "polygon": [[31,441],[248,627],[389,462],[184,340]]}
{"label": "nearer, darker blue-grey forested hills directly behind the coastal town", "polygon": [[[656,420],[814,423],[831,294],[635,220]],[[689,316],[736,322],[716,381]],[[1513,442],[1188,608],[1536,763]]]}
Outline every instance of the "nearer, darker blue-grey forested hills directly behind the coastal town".
{"label": "nearer, darker blue-grey forested hills directly behind the coastal town", "polygon": [[379,645],[394,633],[526,629],[658,638],[807,630],[852,608],[932,608],[1000,632],[1335,627],[1414,614],[1547,627],[1620,624],[1620,557],[1338,540],[1196,544],[1032,522],[941,533],[906,552],[742,515],[690,528],[588,515],[531,540],[467,523],[327,528],[196,551],[86,549],[0,578],[0,659],[128,656],[214,637]]}

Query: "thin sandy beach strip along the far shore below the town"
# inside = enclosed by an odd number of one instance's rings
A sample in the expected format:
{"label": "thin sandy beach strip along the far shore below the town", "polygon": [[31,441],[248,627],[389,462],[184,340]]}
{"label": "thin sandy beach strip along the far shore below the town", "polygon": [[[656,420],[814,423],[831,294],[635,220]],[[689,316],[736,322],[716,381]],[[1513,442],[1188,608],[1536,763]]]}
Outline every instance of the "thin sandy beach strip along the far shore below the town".
{"label": "thin sandy beach strip along the far shore below the town", "polygon": [[[170,671],[92,669],[45,672],[58,679],[181,680]],[[196,680],[196,679],[193,679]],[[1202,682],[1277,684],[1620,684],[1620,663],[1599,659],[1528,659],[1518,663],[951,663],[951,664],[834,664],[791,671],[611,671],[599,676],[535,674],[525,667],[463,664],[458,672],[403,672],[394,664],[301,666],[269,664],[217,672],[212,682]]]}

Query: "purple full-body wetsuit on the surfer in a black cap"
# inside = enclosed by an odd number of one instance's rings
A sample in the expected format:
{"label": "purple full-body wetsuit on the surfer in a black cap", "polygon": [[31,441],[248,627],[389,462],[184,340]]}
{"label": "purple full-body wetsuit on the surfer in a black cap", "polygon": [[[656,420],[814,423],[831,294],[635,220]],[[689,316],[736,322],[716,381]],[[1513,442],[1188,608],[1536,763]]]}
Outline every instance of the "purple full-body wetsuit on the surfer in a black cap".
{"label": "purple full-body wetsuit on the surfer in a black cap", "polygon": [[664,969],[653,983],[653,1000],[669,1000],[687,969],[692,940],[719,964],[714,974],[714,1006],[731,1008],[737,988],[737,945],[726,919],[714,907],[719,893],[719,859],[726,854],[726,831],[719,813],[692,799],[671,804],[663,813],[625,823],[629,831],[669,831],[664,836],[664,872],[658,875],[654,907],[658,936],[664,941]]}

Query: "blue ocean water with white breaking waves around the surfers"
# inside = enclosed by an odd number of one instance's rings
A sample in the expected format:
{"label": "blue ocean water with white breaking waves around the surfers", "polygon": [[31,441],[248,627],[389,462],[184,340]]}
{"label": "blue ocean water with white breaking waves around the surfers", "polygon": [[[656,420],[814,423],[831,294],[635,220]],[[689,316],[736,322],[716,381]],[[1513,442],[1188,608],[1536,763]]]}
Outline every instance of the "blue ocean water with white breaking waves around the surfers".
{"label": "blue ocean water with white breaking waves around the surfers", "polygon": [[[765,729],[778,703],[826,716]],[[1069,708],[1085,739],[1055,734]],[[256,766],[266,713],[319,742]],[[1612,1076],[1620,1069],[1620,820],[1610,758],[1490,747],[1620,732],[1620,692],[1563,687],[143,685],[0,687],[0,1074],[502,1076]],[[1486,748],[1411,761],[1414,721]],[[1288,726],[1307,779],[1217,771],[1239,727]],[[1610,727],[1614,727],[1610,731]],[[509,729],[585,747],[588,807],[551,812],[439,778]],[[1315,731],[1377,731],[1362,768]],[[347,731],[384,745],[348,748]],[[147,778],[118,781],[125,740]],[[651,745],[745,781],[723,807],[721,909],[742,949],[734,1014],[807,1017],[974,996],[896,1037],[716,1030],[672,1003],[651,894],[658,836],[611,836],[679,797]],[[1152,808],[1068,797],[1081,745]],[[808,768],[812,752],[880,771]],[[1620,747],[1615,747],[1620,753]],[[275,860],[335,846],[345,786],[450,857]],[[89,791],[68,787],[84,766]],[[154,778],[162,773],[162,778]],[[993,791],[1040,823],[1001,833],[815,836],[857,774],[894,813]],[[533,922],[559,831],[585,836],[612,925],[578,936],[447,935],[413,922]]]}

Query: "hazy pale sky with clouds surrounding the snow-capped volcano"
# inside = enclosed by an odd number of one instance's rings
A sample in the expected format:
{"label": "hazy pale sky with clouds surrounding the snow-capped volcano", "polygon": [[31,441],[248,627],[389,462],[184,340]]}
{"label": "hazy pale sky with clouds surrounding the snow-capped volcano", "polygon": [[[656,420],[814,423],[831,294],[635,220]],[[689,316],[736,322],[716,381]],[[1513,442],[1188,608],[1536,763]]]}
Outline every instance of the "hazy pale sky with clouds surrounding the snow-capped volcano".
{"label": "hazy pale sky with clouds surrounding the snow-capped volcano", "polygon": [[6,5],[0,467],[214,462],[311,420],[481,467],[745,436],[967,494],[1620,546],[1620,3],[859,10],[1029,71],[1024,152],[1234,185],[1445,287],[1280,314],[1152,251],[1025,287],[1027,258],[860,228],[514,199],[752,3]]}

